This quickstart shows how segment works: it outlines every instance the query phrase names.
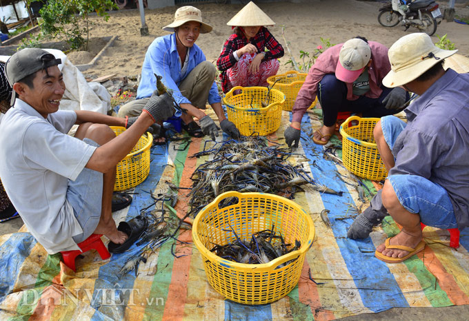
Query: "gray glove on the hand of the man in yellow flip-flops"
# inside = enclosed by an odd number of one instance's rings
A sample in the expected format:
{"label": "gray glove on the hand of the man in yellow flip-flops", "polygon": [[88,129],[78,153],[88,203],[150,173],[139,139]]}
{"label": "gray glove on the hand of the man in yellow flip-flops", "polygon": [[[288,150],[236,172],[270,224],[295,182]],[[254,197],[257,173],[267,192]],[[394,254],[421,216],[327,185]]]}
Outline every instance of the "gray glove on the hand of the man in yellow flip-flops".
{"label": "gray glove on the hand of the man in yellow flip-flops", "polygon": [[368,238],[372,227],[379,225],[383,218],[388,216],[388,211],[383,206],[381,191],[372,198],[370,206],[357,216],[347,231],[347,237],[356,240],[357,238]]}

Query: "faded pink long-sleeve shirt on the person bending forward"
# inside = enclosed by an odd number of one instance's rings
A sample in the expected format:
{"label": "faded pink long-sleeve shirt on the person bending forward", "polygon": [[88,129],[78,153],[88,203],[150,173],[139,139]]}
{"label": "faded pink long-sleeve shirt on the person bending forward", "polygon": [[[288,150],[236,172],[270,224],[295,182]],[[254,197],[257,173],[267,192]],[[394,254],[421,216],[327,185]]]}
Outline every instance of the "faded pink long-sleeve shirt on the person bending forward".
{"label": "faded pink long-sleeve shirt on the person bending forward", "polygon": [[[381,82],[384,76],[391,70],[391,65],[388,59],[388,48],[381,43],[375,41],[368,41],[371,48],[371,59],[372,63],[368,68],[368,74],[370,75],[370,91],[366,92],[364,96],[377,99],[381,95]],[[325,74],[335,74],[335,68],[339,61],[339,52],[342,48],[343,43],[328,48],[325,52],[318,57],[317,61],[310,68],[308,76],[306,76],[305,82],[298,92],[297,100],[293,106],[292,121],[301,122],[303,114],[306,112],[308,107],[316,99],[317,87],[319,81],[323,79]],[[359,98],[352,92],[352,83],[346,83],[347,85],[347,99],[349,101],[355,101]]]}

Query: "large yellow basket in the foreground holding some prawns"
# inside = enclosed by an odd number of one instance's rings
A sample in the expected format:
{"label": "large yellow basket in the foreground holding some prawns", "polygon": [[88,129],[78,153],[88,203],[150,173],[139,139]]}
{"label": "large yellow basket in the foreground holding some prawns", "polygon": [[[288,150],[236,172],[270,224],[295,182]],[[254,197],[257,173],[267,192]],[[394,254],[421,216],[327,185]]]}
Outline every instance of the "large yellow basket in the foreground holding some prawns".
{"label": "large yellow basket in the foreground holding some prawns", "polygon": [[[250,240],[255,232],[272,227],[285,243],[295,245],[299,240],[301,247],[261,265],[232,262],[210,251],[215,244],[236,240],[232,229],[241,240]],[[243,304],[274,302],[292,291],[314,238],[315,226],[306,211],[272,194],[227,191],[204,207],[192,225],[192,240],[203,256],[208,282],[225,298]]]}

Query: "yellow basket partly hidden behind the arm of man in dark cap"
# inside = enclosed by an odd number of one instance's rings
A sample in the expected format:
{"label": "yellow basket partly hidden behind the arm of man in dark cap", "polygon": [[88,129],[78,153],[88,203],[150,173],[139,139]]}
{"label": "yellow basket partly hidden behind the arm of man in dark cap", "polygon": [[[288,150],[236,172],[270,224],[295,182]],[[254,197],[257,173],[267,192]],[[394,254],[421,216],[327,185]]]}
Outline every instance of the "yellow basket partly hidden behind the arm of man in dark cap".
{"label": "yellow basket partly hidden behind the arm of man in dark cap", "polygon": [[[116,135],[126,131],[125,127],[111,126]],[[114,191],[123,191],[139,185],[150,173],[150,147],[153,136],[143,135],[130,153],[117,164]]]}

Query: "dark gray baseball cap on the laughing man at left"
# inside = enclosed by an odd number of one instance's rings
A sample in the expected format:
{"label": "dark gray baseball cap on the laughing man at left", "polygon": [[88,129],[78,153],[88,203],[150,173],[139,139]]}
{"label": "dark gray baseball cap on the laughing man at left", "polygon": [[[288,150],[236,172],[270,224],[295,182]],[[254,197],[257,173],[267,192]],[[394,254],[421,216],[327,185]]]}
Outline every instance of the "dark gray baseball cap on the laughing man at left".
{"label": "dark gray baseball cap on the laughing man at left", "polygon": [[[59,65],[60,59],[56,59],[53,54],[39,48],[26,48],[15,52],[5,64],[5,73],[8,83],[13,87],[14,83],[21,81],[26,76],[34,74],[54,65]],[[17,93],[12,92],[11,105],[17,98]]]}

